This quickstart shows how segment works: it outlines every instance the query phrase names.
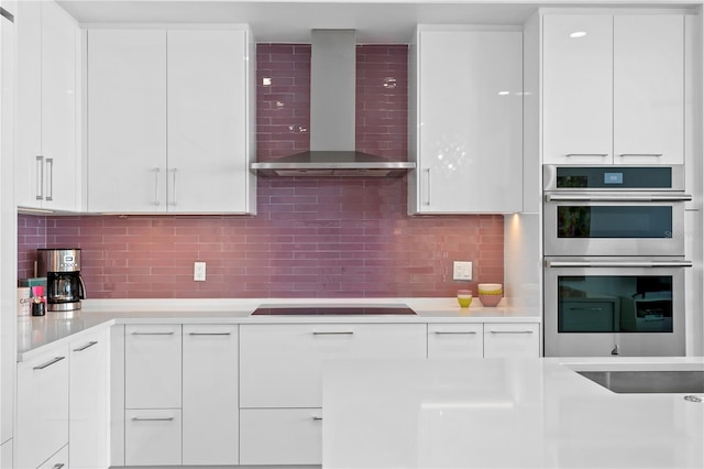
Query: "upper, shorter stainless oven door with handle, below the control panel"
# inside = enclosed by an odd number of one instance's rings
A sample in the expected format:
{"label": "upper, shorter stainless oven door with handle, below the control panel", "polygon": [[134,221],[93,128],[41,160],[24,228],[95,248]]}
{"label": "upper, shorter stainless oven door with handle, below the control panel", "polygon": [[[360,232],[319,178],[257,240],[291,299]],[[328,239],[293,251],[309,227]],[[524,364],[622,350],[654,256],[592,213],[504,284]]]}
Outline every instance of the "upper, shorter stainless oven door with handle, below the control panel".
{"label": "upper, shorter stainless oven door with handle, below the control panel", "polygon": [[544,255],[684,255],[684,203],[672,193],[546,193]]}

